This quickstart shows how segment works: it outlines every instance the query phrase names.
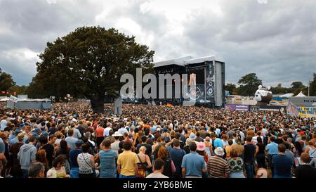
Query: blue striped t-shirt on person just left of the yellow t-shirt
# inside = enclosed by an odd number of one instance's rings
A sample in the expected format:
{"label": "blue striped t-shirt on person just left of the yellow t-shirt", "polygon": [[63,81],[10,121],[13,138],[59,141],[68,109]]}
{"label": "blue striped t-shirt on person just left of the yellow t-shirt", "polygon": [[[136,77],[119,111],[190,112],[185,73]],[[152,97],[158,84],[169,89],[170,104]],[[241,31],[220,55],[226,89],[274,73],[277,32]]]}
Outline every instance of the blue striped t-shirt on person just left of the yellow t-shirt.
{"label": "blue striped t-shirt on person just left of the yellow t-shirt", "polygon": [[117,153],[112,150],[103,150],[99,153],[100,157],[100,178],[115,178],[117,175],[117,167],[115,162]]}

